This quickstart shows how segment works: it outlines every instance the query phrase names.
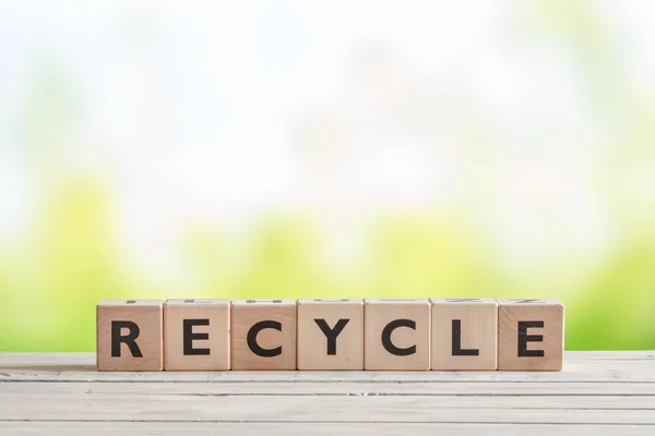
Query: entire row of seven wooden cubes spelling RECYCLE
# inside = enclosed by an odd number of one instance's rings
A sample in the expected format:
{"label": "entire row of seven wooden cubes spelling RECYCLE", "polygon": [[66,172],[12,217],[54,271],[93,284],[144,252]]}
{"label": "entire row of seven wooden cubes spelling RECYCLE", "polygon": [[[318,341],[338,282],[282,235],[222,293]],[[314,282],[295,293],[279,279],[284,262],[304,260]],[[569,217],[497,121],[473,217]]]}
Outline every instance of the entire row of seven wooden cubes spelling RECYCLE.
{"label": "entire row of seven wooden cubes spelling RECYCLE", "polygon": [[556,300],[130,300],[97,306],[98,371],[560,371]]}

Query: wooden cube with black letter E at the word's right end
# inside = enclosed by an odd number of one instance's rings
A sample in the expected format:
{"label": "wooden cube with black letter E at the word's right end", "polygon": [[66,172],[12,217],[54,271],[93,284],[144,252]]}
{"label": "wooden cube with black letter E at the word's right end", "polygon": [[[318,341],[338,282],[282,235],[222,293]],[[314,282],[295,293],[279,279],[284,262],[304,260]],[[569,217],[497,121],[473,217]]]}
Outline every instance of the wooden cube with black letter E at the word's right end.
{"label": "wooden cube with black letter E at the word's right end", "polygon": [[498,370],[561,371],[564,305],[535,299],[498,303]]}

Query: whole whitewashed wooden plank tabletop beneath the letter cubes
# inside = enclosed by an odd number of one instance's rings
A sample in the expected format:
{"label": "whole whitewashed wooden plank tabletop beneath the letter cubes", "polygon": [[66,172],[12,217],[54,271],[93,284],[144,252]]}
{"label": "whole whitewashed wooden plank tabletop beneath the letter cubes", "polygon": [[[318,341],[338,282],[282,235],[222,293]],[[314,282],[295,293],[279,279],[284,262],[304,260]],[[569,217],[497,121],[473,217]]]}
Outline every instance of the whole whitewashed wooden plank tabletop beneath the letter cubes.
{"label": "whole whitewashed wooden plank tabletop beneath the letter cubes", "polygon": [[0,435],[655,435],[655,352],[568,352],[561,373],[97,373],[0,353]]}

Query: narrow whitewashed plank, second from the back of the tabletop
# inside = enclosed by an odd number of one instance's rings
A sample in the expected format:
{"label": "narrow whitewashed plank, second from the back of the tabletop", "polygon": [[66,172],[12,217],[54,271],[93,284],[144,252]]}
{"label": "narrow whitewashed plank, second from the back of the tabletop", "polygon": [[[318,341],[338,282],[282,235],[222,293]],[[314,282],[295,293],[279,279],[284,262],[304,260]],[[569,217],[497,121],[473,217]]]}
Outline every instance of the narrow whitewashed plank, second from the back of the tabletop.
{"label": "narrow whitewashed plank, second from the back of the tabletop", "polygon": [[652,383],[100,383],[31,382],[3,383],[7,395],[75,393],[196,395],[196,396],[655,396]]}

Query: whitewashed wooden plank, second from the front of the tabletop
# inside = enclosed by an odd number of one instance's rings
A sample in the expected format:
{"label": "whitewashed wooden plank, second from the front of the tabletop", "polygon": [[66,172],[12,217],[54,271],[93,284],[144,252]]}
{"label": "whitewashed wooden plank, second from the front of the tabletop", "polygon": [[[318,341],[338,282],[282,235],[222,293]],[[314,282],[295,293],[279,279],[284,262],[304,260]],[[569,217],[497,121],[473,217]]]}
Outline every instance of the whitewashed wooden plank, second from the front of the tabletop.
{"label": "whitewashed wooden plank, second from the front of the tabletop", "polygon": [[[0,398],[0,421],[424,422],[655,425],[655,398],[611,397],[199,397]],[[614,408],[611,404],[614,403]],[[453,405],[454,404],[454,405]],[[600,407],[597,407],[599,404]]]}

